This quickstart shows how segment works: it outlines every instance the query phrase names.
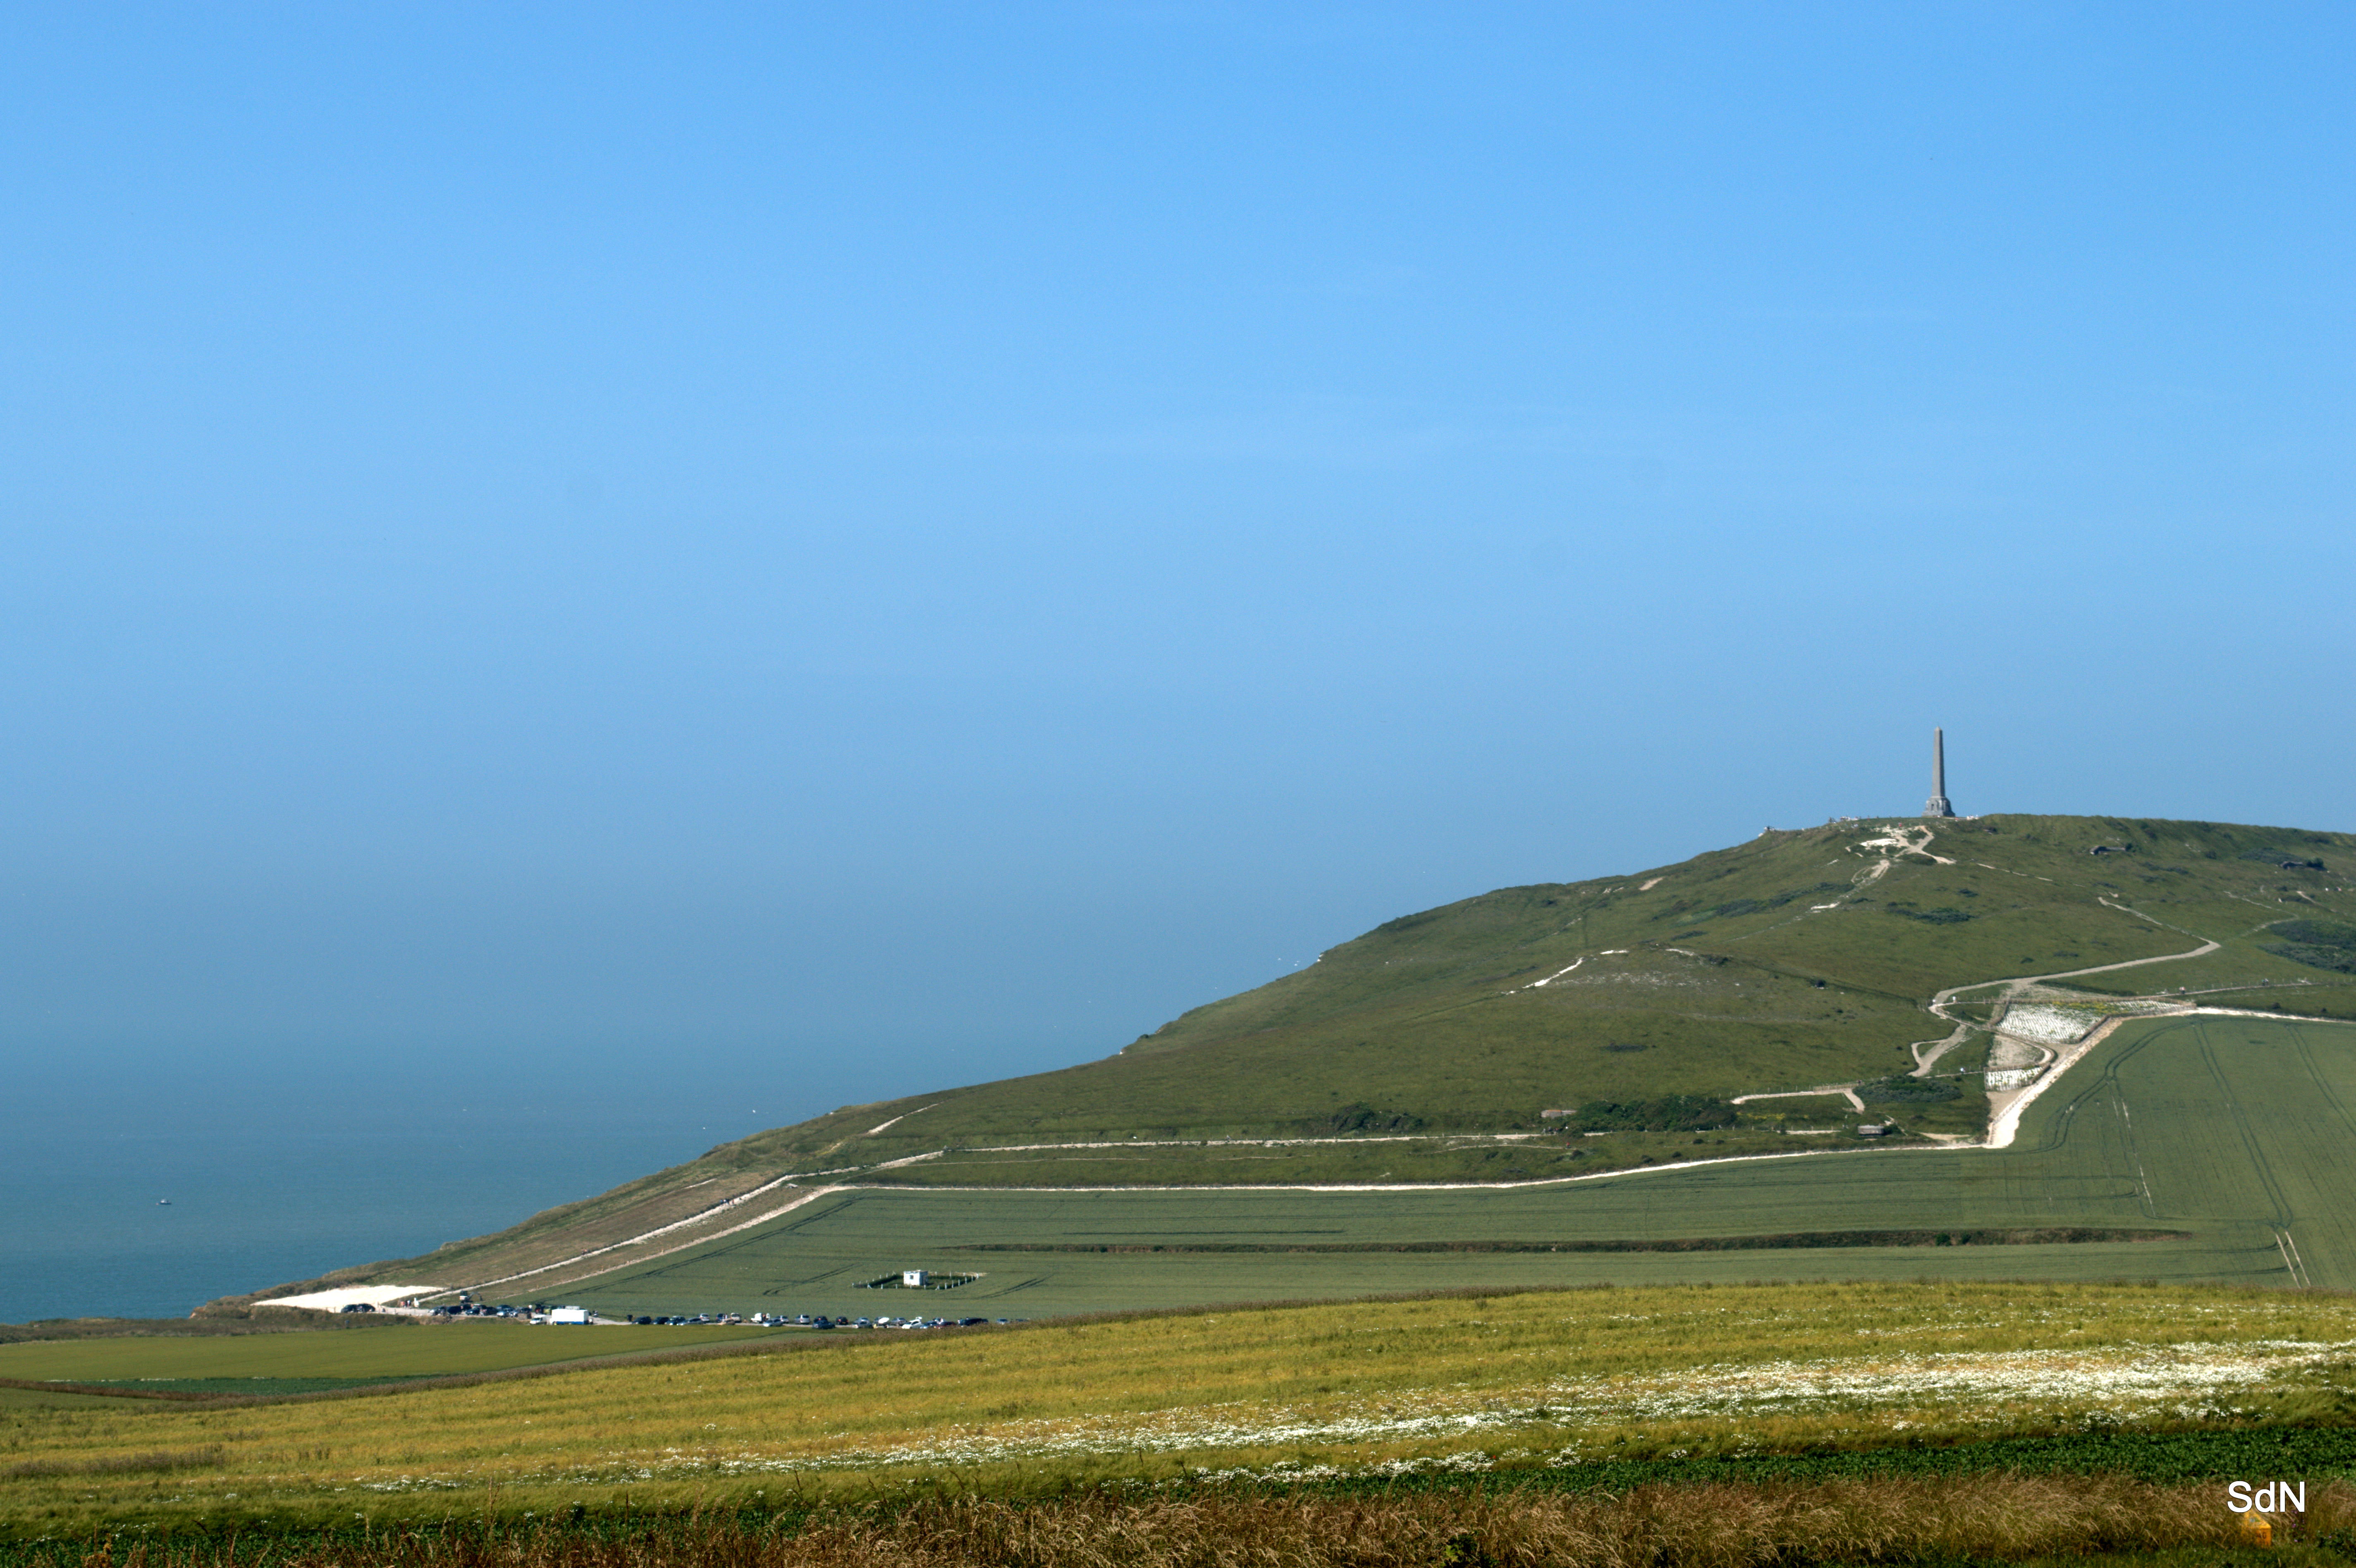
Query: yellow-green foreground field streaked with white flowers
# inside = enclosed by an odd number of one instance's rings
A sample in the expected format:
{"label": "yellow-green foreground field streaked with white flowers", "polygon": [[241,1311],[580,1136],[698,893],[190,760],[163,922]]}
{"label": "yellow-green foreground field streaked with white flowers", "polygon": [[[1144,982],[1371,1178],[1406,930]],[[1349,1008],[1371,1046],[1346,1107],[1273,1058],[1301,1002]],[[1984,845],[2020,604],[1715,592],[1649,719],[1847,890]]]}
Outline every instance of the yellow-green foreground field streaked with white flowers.
{"label": "yellow-green foreground field streaked with white flowers", "polygon": [[[2328,1417],[2356,1300],[2144,1285],[1571,1290],[879,1335],[316,1403],[0,1410],[0,1530],[985,1495]],[[217,1450],[188,1471],[115,1469]],[[471,1500],[471,1502],[469,1502]]]}

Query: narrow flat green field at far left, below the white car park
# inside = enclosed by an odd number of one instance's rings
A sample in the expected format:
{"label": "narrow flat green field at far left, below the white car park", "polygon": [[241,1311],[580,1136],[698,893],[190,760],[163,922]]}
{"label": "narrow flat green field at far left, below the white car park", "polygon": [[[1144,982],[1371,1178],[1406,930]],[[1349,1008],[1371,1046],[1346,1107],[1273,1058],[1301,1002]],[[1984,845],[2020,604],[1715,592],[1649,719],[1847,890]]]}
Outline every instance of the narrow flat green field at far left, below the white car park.
{"label": "narrow flat green field at far left, below the white car park", "polygon": [[[587,1356],[756,1340],[768,1333],[747,1326],[532,1328],[457,1321],[365,1335],[31,1340],[0,1344],[0,1377],[155,1391],[306,1394],[401,1377],[459,1377]],[[7,1391],[38,1396],[31,1389]]]}

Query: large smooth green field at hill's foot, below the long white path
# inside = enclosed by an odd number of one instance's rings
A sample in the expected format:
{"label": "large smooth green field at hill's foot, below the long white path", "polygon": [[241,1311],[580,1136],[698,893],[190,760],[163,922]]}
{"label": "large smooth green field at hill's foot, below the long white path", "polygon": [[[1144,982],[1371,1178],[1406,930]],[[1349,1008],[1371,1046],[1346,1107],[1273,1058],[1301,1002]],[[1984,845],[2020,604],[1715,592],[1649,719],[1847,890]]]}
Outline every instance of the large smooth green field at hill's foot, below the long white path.
{"label": "large smooth green field at hill's foot, below the long white path", "polygon": [[[2356,1288],[2356,1026],[2123,1026],[2012,1149],[1699,1163],[1501,1189],[914,1191],[785,1220],[573,1285],[598,1311],[1039,1318],[1470,1285],[1753,1278],[2163,1278]],[[2160,1234],[2043,1245],[1543,1250],[1807,1234]],[[1402,1245],[1472,1250],[1395,1250]],[[1522,1245],[1538,1250],[1496,1250]],[[865,1290],[888,1271],[978,1274]]]}

